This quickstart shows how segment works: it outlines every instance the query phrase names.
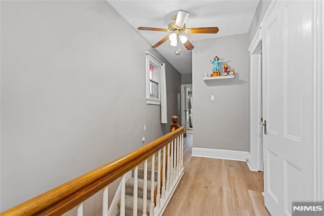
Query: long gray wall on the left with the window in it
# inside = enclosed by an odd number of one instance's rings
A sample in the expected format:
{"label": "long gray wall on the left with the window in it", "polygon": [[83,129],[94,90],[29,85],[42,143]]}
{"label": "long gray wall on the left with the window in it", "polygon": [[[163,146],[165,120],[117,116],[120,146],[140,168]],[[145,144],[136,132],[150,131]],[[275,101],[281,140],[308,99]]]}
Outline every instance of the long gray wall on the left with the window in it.
{"label": "long gray wall on the left with the window in it", "polygon": [[[146,104],[145,50],[166,63],[165,125]],[[179,115],[181,75],[106,1],[1,1],[1,57],[1,210],[146,145]]]}

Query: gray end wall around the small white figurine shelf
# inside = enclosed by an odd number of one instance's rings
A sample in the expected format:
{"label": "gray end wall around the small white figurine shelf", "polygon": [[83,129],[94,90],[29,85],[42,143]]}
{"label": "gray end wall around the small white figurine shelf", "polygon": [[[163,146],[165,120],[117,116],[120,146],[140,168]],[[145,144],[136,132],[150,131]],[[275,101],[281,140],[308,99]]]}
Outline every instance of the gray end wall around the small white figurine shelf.
{"label": "gray end wall around the small white figurine shelf", "polygon": [[[203,81],[210,59],[224,58],[234,79]],[[194,148],[249,151],[248,34],[195,41],[192,51]],[[223,65],[220,64],[220,66]],[[223,71],[221,67],[221,71]],[[211,101],[215,95],[215,101]]]}

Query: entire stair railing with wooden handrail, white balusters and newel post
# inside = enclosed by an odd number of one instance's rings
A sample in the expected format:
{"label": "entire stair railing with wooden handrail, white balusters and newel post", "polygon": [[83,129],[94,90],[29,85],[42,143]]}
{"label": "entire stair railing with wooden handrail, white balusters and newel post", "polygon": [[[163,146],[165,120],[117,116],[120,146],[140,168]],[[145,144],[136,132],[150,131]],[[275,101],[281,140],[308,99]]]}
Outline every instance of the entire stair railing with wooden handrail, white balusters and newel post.
{"label": "entire stair railing with wooden handrail, white balusters and newel post", "polygon": [[[102,215],[108,215],[108,185],[121,177],[121,193],[120,193],[120,211],[119,214],[126,214],[125,208],[125,181],[129,171],[134,170],[134,203],[133,215],[137,215],[138,199],[137,199],[137,171],[138,165],[144,162],[144,188],[143,188],[143,209],[142,215],[147,215],[147,162],[151,158],[151,194],[149,203],[150,215],[161,215],[165,210],[168,202],[174,193],[176,186],[180,182],[183,175],[183,133],[184,127],[177,125],[178,117],[173,116],[171,129],[172,132],[156,139],[148,145],[133,151],[123,157],[120,157],[110,163],[107,163],[97,169],[94,169],[82,176],[79,176],[61,186],[58,186],[48,192],[38,195],[30,200],[27,200],[19,205],[16,205],[4,212],[2,216],[14,215],[62,215],[72,208],[77,208],[77,215],[83,215],[84,201],[92,197],[99,191],[103,194]],[[177,129],[176,129],[177,128]],[[166,151],[171,146],[171,154]],[[161,149],[168,157],[163,157],[163,164],[167,165],[166,160],[171,160],[170,169],[167,168],[167,176],[170,174],[170,187],[162,187],[164,196],[157,201],[157,206],[154,205],[154,173],[155,173],[155,153],[158,152],[158,170],[160,170],[160,154]],[[174,151],[173,151],[174,150]],[[172,157],[173,156],[173,157]],[[167,159],[166,159],[167,158]],[[168,166],[169,167],[169,166]],[[173,169],[172,169],[173,167]],[[165,172],[165,171],[164,171]],[[157,172],[159,173],[159,172]],[[168,174],[169,173],[169,174]],[[165,181],[165,174],[162,176],[162,182]],[[158,176],[157,181],[160,181]],[[159,183],[157,184],[159,185]],[[158,196],[157,194],[157,196]]]}

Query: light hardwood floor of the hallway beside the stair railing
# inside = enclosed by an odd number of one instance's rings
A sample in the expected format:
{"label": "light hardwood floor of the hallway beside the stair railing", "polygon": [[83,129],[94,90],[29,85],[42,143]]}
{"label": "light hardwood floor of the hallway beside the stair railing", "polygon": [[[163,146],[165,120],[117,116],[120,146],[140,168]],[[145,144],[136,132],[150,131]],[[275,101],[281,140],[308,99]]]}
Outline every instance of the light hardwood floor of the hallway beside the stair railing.
{"label": "light hardwood floor of the hallway beside the stair railing", "polygon": [[184,175],[163,215],[270,215],[264,206],[263,172],[246,162],[191,157],[184,138]]}

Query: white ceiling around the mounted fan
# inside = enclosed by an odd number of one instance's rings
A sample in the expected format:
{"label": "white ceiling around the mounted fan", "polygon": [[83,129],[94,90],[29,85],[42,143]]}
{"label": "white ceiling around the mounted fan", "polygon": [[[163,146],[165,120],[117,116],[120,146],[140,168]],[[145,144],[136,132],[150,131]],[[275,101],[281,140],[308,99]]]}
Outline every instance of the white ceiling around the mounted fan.
{"label": "white ceiling around the mounted fan", "polygon": [[[179,10],[190,13],[186,27],[215,27],[217,34],[186,34],[194,41],[247,33],[259,0],[237,1],[109,1],[108,3],[136,30],[138,27],[168,28]],[[169,35],[168,32],[137,30],[152,46]],[[191,74],[191,52],[182,46],[175,55],[170,41],[156,48],[181,74]]]}

